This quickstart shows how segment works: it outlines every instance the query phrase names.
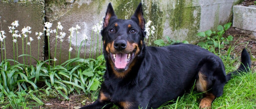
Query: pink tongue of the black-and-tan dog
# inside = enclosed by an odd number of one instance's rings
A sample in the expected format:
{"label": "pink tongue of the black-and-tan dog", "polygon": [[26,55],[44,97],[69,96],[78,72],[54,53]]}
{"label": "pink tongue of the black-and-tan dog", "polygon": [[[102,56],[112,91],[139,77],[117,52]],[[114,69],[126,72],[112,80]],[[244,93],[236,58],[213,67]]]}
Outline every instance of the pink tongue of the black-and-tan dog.
{"label": "pink tongue of the black-and-tan dog", "polygon": [[127,55],[128,54],[124,54],[124,53],[117,53],[115,56],[115,67],[118,69],[123,69],[125,68],[126,64],[127,64]]}

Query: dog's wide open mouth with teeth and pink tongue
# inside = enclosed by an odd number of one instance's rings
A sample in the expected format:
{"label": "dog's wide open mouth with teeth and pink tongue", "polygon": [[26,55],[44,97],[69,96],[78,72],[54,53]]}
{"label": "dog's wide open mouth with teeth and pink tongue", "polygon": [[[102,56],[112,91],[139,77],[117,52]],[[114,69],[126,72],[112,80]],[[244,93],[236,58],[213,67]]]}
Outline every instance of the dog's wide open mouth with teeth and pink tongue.
{"label": "dog's wide open mouth with teeth and pink tongue", "polygon": [[124,71],[128,69],[131,61],[134,58],[135,52],[126,54],[126,53],[116,53],[111,54],[112,61],[114,63],[115,70]]}

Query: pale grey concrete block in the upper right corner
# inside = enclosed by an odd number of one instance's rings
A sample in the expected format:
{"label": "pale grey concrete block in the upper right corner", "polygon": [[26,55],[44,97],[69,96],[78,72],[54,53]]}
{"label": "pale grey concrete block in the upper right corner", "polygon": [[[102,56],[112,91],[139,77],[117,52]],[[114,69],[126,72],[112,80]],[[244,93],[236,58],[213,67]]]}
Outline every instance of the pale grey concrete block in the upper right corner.
{"label": "pale grey concrete block in the upper right corner", "polygon": [[256,32],[256,8],[233,6],[233,27]]}

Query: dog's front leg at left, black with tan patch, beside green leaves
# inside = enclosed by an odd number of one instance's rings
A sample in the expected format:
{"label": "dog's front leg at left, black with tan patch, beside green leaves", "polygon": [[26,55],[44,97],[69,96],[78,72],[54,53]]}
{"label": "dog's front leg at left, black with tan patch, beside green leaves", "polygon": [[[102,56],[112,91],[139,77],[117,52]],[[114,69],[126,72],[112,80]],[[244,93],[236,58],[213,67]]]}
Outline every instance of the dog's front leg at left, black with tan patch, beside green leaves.
{"label": "dog's front leg at left, black with tan patch, beside green leaves", "polygon": [[110,102],[110,96],[103,91],[100,91],[98,99],[87,106],[83,106],[80,109],[109,109],[113,106],[113,103]]}

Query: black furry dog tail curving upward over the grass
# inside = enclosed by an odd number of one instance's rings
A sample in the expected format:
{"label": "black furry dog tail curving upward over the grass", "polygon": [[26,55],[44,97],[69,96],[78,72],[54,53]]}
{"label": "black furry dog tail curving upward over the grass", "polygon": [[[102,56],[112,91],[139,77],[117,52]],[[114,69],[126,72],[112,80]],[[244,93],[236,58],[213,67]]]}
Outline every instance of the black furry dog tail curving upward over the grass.
{"label": "black furry dog tail curving upward over the grass", "polygon": [[246,49],[241,53],[241,65],[236,71],[227,74],[227,82],[232,78],[232,75],[239,75],[241,72],[248,72],[251,68],[251,58]]}

